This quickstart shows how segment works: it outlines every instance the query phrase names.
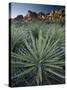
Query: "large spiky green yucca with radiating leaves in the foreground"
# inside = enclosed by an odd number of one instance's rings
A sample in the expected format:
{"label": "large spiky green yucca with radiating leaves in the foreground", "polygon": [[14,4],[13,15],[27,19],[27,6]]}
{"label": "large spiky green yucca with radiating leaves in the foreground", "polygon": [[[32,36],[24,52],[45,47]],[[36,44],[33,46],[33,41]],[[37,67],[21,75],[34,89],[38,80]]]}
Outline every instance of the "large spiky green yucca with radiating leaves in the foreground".
{"label": "large spiky green yucca with radiating leaves in the foreground", "polygon": [[38,28],[37,37],[32,30],[29,30],[28,36],[24,34],[24,38],[21,32],[15,32],[19,39],[12,35],[16,38],[11,50],[11,80],[14,86],[19,86],[19,83],[30,86],[65,82],[64,30],[61,27],[57,30],[53,25],[47,30],[42,28]]}

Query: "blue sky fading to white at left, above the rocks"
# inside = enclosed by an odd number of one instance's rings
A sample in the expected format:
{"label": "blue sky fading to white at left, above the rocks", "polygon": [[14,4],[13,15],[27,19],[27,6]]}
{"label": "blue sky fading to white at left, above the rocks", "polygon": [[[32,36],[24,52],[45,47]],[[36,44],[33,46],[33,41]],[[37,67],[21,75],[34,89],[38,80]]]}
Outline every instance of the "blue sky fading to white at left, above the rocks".
{"label": "blue sky fading to white at left, above the rocks", "polygon": [[[10,10],[11,8],[11,10]],[[9,6],[9,12],[11,12],[11,18],[16,17],[17,15],[25,16],[28,10],[33,12],[43,12],[47,13],[50,10],[59,10],[65,9],[64,6],[55,6],[55,5],[43,5],[43,4],[24,4],[24,3],[11,3]]]}

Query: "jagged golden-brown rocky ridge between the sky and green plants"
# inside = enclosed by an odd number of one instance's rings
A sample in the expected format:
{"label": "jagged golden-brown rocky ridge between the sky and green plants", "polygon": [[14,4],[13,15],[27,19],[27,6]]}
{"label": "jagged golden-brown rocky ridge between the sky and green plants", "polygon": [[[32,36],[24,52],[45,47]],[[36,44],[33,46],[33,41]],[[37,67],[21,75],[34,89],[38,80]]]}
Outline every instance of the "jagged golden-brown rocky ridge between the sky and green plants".
{"label": "jagged golden-brown rocky ridge between the sky and green plants", "polygon": [[19,20],[19,21],[31,21],[32,19],[39,19],[39,20],[44,20],[44,21],[65,21],[65,10],[51,10],[48,13],[43,13],[43,12],[32,12],[28,11],[26,16],[23,17],[23,15],[18,15],[14,20]]}

